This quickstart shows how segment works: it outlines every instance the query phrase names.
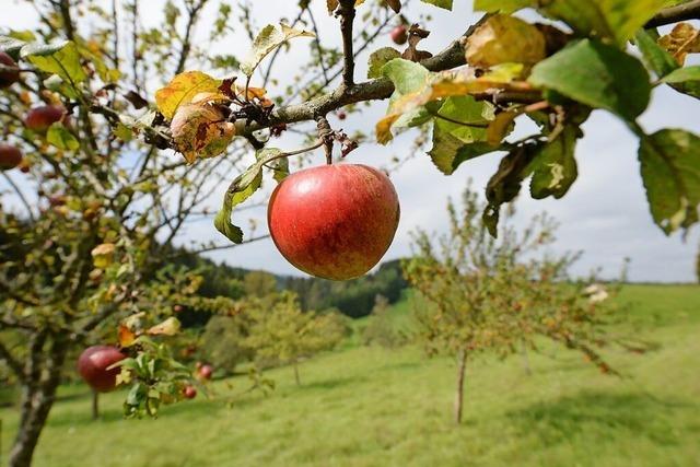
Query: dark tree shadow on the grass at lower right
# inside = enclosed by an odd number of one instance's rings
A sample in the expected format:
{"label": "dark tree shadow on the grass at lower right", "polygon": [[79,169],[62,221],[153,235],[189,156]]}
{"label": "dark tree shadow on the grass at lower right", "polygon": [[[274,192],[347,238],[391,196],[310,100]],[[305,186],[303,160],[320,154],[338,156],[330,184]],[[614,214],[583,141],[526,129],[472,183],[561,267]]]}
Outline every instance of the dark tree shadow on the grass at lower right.
{"label": "dark tree shadow on the grass at lower right", "polygon": [[645,394],[582,392],[511,411],[506,417],[523,434],[535,433],[545,444],[567,443],[579,436],[609,439],[611,433],[627,432],[655,444],[675,445],[674,418],[690,407],[693,405]]}

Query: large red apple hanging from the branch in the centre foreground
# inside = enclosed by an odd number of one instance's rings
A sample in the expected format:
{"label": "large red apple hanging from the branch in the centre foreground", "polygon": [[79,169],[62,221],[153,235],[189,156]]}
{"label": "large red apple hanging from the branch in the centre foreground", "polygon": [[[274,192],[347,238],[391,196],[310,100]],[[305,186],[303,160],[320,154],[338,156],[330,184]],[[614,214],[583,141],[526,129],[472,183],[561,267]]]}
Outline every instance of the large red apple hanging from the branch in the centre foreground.
{"label": "large red apple hanging from the branch in the centre foreground", "polygon": [[267,211],[272,241],[296,268],[332,280],[358,278],[386,253],[398,226],[394,185],[358,164],[324,165],[280,183]]}

